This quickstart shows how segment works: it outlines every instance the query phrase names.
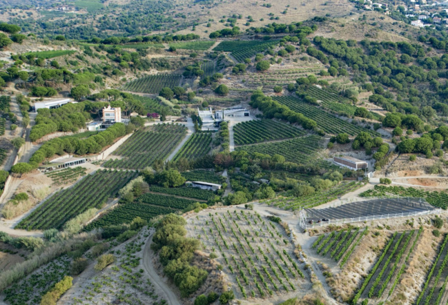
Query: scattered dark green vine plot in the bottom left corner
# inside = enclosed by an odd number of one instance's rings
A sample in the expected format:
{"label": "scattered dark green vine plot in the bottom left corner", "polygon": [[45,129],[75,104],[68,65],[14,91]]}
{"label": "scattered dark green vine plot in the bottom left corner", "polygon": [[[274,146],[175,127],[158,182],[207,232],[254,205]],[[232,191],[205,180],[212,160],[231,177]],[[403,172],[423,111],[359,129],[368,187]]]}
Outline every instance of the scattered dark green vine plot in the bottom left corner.
{"label": "scattered dark green vine plot in the bottom left corner", "polygon": [[26,279],[3,291],[3,301],[11,305],[41,304],[42,295],[70,273],[71,260],[67,255],[63,255],[44,265]]}

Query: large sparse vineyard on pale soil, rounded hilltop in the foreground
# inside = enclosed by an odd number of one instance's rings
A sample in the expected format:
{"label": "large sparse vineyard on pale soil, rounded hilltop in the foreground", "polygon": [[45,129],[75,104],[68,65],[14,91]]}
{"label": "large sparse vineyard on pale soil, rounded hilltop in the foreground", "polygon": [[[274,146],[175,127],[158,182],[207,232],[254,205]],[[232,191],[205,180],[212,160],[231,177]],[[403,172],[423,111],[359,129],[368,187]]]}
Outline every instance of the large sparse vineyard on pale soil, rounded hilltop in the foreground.
{"label": "large sparse vineyard on pale soil, rounded hilltop in the foreground", "polygon": [[260,214],[233,208],[199,213],[186,227],[204,252],[217,255],[237,299],[260,304],[307,283],[284,228]]}

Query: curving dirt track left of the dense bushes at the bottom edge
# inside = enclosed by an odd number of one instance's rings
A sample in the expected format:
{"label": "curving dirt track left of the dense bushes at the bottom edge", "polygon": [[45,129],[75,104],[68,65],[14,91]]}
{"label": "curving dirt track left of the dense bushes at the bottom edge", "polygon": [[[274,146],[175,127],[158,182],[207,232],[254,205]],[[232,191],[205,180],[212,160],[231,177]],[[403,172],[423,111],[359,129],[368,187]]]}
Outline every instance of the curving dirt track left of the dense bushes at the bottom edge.
{"label": "curving dirt track left of the dense bushes at the bottom edge", "polygon": [[151,235],[146,240],[146,245],[143,253],[143,266],[146,272],[148,273],[153,285],[159,288],[159,290],[164,292],[165,294],[164,297],[167,300],[168,304],[181,305],[182,303],[177,298],[177,295],[173,293],[173,291],[171,291],[171,288],[168,287],[167,284],[165,284],[165,282],[159,277],[159,275],[154,269],[153,265],[154,252],[150,248],[150,244],[153,242],[153,234],[154,233],[151,233]]}

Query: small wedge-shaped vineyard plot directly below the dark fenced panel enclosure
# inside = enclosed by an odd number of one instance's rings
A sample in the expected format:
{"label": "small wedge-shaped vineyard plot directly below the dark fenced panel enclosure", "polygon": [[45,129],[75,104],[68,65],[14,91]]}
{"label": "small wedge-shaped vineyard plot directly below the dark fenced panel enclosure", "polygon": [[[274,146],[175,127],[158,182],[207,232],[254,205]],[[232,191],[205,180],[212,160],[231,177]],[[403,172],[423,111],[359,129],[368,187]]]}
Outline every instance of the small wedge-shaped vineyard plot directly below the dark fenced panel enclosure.
{"label": "small wedge-shaped vineyard plot directly below the dark fenced panel enclosure", "polygon": [[340,262],[342,268],[367,232],[367,227],[364,230],[358,227],[333,231],[327,235],[320,235],[311,248],[314,248],[322,257]]}

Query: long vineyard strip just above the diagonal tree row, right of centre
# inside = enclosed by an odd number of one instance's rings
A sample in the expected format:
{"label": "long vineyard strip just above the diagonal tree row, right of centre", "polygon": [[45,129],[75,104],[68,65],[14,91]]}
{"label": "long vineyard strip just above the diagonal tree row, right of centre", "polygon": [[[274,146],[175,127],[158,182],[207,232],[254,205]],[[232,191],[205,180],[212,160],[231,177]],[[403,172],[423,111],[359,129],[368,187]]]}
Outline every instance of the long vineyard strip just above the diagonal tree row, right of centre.
{"label": "long vineyard strip just above the diagonal tree row, right of centre", "polygon": [[274,99],[280,104],[289,107],[291,110],[300,112],[305,117],[313,119],[318,124],[318,127],[322,128],[324,132],[329,134],[337,135],[338,133],[345,132],[354,136],[364,131],[369,132],[374,137],[380,136],[380,134],[374,130],[362,128],[360,126],[350,124],[342,119],[338,119],[337,117],[333,117],[333,115],[330,115],[324,110],[316,106],[306,104],[304,101],[296,99],[295,97],[274,97]]}

